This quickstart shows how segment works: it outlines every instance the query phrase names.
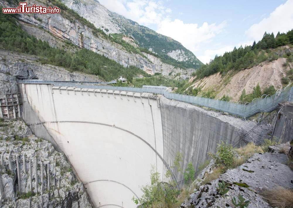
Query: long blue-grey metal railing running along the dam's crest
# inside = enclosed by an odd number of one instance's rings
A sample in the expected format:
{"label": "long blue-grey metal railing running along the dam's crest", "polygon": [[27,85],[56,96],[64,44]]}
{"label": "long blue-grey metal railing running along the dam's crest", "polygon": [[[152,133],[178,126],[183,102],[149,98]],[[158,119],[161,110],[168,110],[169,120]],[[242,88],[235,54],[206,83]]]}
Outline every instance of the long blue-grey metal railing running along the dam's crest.
{"label": "long blue-grey metal railing running along the dam's crest", "polygon": [[164,86],[143,86],[135,87],[115,87],[103,86],[101,82],[75,82],[75,81],[42,81],[42,80],[18,80],[24,84],[52,84],[54,86],[75,87],[75,88],[96,88],[115,91],[130,91],[137,93],[154,93],[165,96],[168,99],[178,100],[185,103],[200,105],[222,112],[227,112],[243,118],[251,117],[258,112],[271,112],[275,110],[279,103],[293,102],[293,87],[278,90],[274,95],[263,95],[262,98],[255,98],[251,103],[231,103],[224,100],[215,100],[188,94],[170,93]]}

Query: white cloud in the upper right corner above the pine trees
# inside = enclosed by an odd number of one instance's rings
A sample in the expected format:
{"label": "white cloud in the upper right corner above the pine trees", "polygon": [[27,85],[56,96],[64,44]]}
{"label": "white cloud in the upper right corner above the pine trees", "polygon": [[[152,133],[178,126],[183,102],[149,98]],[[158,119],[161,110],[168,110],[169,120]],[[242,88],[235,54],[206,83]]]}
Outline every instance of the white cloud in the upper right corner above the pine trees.
{"label": "white cloud in the upper right corner above the pine trees", "polygon": [[273,32],[277,35],[278,31],[287,32],[293,28],[293,0],[288,0],[285,4],[278,6],[268,18],[264,18],[257,24],[253,24],[245,34],[248,40],[258,41],[266,32]]}

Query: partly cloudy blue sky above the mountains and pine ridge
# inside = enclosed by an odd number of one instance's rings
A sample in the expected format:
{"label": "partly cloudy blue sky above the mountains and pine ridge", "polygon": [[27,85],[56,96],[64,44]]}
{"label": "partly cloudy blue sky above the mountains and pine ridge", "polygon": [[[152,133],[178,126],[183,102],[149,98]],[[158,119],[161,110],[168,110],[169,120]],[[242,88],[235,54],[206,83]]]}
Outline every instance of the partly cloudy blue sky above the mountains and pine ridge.
{"label": "partly cloudy blue sky above the mountains and pine ridge", "polygon": [[265,31],[293,28],[293,0],[99,0],[110,11],[178,40],[203,63]]}

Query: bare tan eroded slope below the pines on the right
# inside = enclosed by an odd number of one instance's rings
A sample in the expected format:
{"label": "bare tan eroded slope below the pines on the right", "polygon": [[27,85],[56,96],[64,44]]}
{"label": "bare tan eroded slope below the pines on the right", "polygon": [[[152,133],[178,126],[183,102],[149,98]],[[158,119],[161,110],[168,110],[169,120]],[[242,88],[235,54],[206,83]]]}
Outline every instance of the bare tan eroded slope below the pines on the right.
{"label": "bare tan eroded slope below the pines on the right", "polygon": [[262,62],[250,69],[229,71],[225,76],[218,72],[196,81],[193,77],[189,82],[193,82],[191,87],[201,88],[202,92],[214,90],[217,93],[216,99],[228,95],[232,97],[234,102],[238,102],[243,89],[245,89],[246,94],[252,93],[257,84],[260,85],[262,90],[270,85],[273,85],[276,89],[283,88],[282,77],[286,76],[287,71],[292,68],[292,64],[289,63],[285,66],[285,63],[286,58],[279,58],[272,62]]}

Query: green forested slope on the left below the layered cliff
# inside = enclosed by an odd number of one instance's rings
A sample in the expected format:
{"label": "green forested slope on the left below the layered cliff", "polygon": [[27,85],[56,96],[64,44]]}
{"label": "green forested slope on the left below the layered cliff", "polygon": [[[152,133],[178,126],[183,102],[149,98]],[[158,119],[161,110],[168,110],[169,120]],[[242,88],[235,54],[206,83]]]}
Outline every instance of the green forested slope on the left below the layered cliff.
{"label": "green forested slope on the left below the layered cliff", "polygon": [[2,14],[0,11],[0,48],[21,53],[33,54],[40,57],[42,64],[52,64],[64,67],[69,71],[80,71],[87,74],[98,75],[110,81],[124,76],[131,79],[133,76],[147,73],[137,67],[123,67],[117,62],[99,55],[88,49],[79,49],[71,42],[64,42],[63,47],[73,47],[75,52],[50,47],[48,42],[38,40],[29,35],[16,23],[16,15]]}

